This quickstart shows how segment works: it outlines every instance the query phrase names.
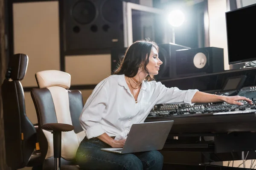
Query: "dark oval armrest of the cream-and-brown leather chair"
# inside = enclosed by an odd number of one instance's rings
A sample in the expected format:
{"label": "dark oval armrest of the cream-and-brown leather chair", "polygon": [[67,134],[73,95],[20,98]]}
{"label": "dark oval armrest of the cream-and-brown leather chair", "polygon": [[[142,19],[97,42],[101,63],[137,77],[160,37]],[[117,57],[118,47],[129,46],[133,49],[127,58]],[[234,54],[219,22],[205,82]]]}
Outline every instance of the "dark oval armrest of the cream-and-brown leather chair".
{"label": "dark oval armrest of the cream-and-brown leather chair", "polygon": [[41,126],[44,130],[53,130],[53,131],[60,131],[60,132],[68,132],[74,130],[74,126],[64,123],[47,123]]}

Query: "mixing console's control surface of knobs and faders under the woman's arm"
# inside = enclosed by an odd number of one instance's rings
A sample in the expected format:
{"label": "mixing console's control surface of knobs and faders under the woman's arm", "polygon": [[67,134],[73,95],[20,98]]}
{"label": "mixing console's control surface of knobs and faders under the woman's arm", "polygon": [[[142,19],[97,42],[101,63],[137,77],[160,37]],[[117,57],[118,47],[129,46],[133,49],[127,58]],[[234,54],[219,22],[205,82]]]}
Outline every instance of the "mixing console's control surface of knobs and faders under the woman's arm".
{"label": "mixing console's control surface of knobs and faders under the woman's arm", "polygon": [[[216,95],[223,95],[223,93],[216,93]],[[227,113],[251,113],[256,112],[256,86],[244,87],[238,93],[239,96],[245,96],[253,100],[253,105],[248,104],[245,101],[244,105],[230,105],[226,102],[219,103],[196,103],[193,106],[190,105],[173,105],[173,104],[160,104],[155,105],[149,113],[148,117],[159,116],[178,116],[189,114],[227,114]]]}

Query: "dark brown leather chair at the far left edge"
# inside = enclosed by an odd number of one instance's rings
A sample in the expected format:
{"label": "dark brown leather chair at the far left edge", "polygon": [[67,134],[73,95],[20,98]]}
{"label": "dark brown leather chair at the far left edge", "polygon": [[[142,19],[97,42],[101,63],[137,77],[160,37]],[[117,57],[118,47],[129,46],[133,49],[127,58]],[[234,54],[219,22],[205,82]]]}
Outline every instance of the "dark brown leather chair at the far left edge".
{"label": "dark brown leather chair at the far left edge", "polygon": [[9,58],[6,78],[1,86],[6,162],[12,170],[23,167],[41,169],[41,154],[35,152],[36,127],[26,116],[21,80],[26,75],[29,58],[15,54]]}

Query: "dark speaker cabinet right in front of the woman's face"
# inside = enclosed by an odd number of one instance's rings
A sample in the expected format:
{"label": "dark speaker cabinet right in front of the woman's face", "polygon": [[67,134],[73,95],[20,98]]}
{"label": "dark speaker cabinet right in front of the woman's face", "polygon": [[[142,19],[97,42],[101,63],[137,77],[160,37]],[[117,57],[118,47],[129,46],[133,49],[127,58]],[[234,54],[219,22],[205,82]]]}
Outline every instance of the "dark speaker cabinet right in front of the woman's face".
{"label": "dark speaker cabinet right in front of the woman's face", "polygon": [[160,65],[160,70],[155,76],[157,80],[172,79],[176,77],[176,50],[190,49],[189,47],[178,45],[174,43],[160,44],[159,59],[163,62]]}

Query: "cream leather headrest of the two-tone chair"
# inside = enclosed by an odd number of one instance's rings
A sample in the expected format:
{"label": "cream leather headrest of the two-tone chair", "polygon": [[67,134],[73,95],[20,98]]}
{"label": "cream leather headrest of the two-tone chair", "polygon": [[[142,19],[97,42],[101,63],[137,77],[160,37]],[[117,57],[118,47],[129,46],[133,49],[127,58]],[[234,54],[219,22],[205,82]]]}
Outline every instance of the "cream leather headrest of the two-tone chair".
{"label": "cream leather headrest of the two-tone chair", "polygon": [[58,70],[39,71],[35,74],[35,79],[39,88],[49,88],[60,86],[66,89],[70,88],[70,74]]}

